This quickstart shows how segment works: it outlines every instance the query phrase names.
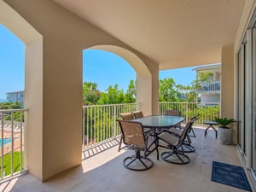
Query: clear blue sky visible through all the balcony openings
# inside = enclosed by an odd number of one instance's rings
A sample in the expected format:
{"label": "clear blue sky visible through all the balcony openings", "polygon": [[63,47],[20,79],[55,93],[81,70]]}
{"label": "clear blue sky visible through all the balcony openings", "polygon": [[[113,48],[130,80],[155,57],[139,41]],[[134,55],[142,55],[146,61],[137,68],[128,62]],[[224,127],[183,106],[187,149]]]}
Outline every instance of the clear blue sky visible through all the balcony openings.
{"label": "clear blue sky visible through all the balcony openings", "polygon": [[[83,80],[95,82],[104,91],[117,84],[126,90],[131,79],[136,79],[134,69],[123,58],[113,53],[87,49],[83,52]],[[25,44],[3,25],[0,25],[0,100],[6,92],[24,90]],[[177,84],[188,85],[195,79],[194,67],[160,71],[160,79],[173,78]]]}

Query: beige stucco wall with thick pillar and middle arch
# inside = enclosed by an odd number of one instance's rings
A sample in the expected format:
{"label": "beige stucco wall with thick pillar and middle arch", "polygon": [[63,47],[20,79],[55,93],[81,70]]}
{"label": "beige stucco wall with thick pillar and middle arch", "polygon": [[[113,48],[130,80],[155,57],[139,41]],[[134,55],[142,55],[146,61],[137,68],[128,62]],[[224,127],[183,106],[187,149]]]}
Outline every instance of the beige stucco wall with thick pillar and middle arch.
{"label": "beige stucco wall with thick pillar and middle arch", "polygon": [[[149,106],[145,113],[158,112],[156,63],[52,1],[6,2],[43,36],[42,63],[26,66],[27,137],[31,138],[27,139],[29,172],[44,181],[81,163],[83,49],[112,44],[135,53],[151,75],[137,75],[139,87],[148,81],[150,85],[138,98],[139,102]],[[29,46],[26,44],[26,49]],[[32,46],[38,54],[42,42],[33,42]],[[32,56],[32,49],[29,50],[26,55]]]}

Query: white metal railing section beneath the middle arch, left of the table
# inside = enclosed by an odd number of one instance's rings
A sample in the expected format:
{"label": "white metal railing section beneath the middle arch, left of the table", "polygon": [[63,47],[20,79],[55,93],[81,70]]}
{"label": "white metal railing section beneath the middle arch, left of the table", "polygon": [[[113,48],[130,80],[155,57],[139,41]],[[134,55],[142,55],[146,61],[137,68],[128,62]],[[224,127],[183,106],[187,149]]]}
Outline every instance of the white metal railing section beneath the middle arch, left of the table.
{"label": "white metal railing section beneath the middle arch, left of the table", "polygon": [[83,106],[83,147],[94,147],[120,135],[119,113],[135,111],[139,103]]}

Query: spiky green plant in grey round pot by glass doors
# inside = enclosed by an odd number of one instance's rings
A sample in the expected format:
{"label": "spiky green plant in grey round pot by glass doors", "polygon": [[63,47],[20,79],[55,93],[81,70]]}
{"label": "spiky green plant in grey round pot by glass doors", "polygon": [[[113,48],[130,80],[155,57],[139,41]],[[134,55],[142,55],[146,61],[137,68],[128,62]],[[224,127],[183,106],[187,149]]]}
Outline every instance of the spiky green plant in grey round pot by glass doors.
{"label": "spiky green plant in grey round pot by glass doors", "polygon": [[221,144],[233,144],[233,129],[229,127],[231,123],[236,122],[235,119],[215,118],[218,123],[218,142]]}

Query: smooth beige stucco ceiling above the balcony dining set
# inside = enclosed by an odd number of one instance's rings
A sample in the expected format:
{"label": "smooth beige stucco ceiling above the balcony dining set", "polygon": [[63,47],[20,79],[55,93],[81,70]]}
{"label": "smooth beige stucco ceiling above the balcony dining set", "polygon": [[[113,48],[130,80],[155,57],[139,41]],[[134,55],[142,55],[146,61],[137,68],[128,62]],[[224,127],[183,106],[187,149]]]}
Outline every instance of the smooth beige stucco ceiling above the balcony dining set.
{"label": "smooth beige stucco ceiling above the balcony dining set", "polygon": [[54,0],[160,63],[160,69],[220,62],[236,38],[245,0]]}

